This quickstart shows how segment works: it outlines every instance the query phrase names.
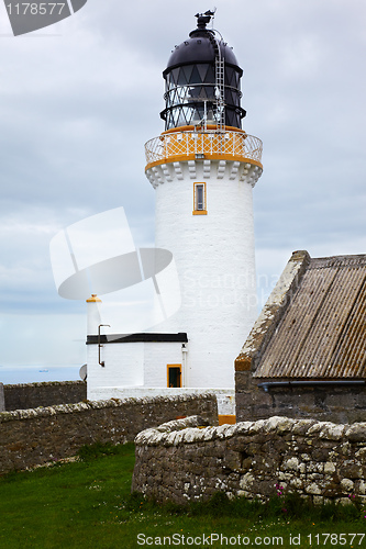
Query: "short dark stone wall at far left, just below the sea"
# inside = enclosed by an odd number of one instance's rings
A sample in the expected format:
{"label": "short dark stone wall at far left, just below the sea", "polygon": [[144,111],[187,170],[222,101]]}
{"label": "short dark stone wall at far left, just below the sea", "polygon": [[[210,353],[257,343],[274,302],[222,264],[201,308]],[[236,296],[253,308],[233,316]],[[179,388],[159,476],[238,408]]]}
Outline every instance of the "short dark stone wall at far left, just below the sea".
{"label": "short dark stone wall at far left, just below the sea", "polygon": [[3,385],[5,410],[27,410],[55,404],[73,404],[87,397],[84,381],[49,381]]}

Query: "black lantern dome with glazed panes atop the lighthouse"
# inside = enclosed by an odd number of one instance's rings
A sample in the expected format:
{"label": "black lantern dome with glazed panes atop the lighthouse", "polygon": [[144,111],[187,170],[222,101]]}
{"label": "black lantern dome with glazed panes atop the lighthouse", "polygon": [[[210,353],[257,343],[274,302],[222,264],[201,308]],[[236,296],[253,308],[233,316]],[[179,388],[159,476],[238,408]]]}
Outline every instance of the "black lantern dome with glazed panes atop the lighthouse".
{"label": "black lantern dome with glazed panes atop the lighthouse", "polygon": [[230,46],[207,29],[213,13],[197,14],[197,29],[176,46],[167,68],[165,130],[187,125],[223,125],[241,128],[240,79],[243,70]]}

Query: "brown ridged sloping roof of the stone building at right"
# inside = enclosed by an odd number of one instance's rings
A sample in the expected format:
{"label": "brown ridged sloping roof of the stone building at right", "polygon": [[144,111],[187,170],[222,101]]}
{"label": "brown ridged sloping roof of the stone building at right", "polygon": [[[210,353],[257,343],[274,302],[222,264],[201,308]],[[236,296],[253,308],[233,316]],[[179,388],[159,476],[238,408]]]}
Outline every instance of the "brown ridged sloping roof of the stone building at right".
{"label": "brown ridged sloping roof of the stone building at right", "polygon": [[295,253],[235,368],[274,380],[366,378],[366,255]]}

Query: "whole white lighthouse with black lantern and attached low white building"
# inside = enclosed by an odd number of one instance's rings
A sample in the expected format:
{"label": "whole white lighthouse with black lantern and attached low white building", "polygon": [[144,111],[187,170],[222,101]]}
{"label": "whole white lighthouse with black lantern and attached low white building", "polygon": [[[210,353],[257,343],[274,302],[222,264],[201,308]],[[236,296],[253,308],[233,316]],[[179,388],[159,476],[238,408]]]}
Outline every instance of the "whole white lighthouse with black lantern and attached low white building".
{"label": "whole white lighthouse with black lantern and attached low white building", "polygon": [[145,145],[155,246],[173,254],[181,304],[148,332],[107,337],[102,303],[88,300],[89,399],[234,389],[234,360],[257,315],[252,190],[262,142],[242,130],[243,70],[207,27],[211,16],[197,14],[171,53],[165,131]]}

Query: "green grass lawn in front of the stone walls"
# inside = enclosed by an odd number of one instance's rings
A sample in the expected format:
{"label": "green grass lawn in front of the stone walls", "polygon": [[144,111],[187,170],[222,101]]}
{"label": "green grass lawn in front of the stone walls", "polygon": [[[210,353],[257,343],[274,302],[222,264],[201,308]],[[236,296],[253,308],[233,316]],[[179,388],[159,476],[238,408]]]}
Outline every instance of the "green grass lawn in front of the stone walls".
{"label": "green grass lawn in front of the stone walls", "polygon": [[[77,462],[0,478],[1,549],[124,549],[159,547],[158,541],[162,547],[164,536],[165,547],[170,537],[170,547],[181,548],[234,547],[230,537],[236,537],[236,547],[244,547],[244,541],[255,547],[255,539],[262,540],[262,547],[280,547],[279,538],[281,547],[288,548],[366,547],[366,536],[362,545],[361,537],[351,544],[351,534],[366,531],[366,511],[356,502],[347,506],[312,507],[289,495],[263,505],[244,498],[229,501],[224,494],[217,494],[206,504],[195,503],[185,508],[171,504],[159,506],[138,494],[130,494],[133,445],[93,445],[82,448],[80,457],[82,460]],[[324,544],[323,534],[346,536],[333,536]],[[222,545],[211,545],[210,535],[228,537],[229,545],[224,539]],[[293,536],[299,535],[300,545],[290,544],[290,536],[293,541]],[[311,546],[309,535],[312,535]],[[187,537],[200,539],[191,545]],[[278,539],[271,540],[273,537]]]}

